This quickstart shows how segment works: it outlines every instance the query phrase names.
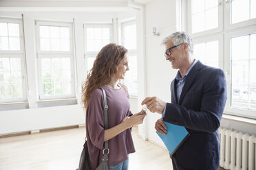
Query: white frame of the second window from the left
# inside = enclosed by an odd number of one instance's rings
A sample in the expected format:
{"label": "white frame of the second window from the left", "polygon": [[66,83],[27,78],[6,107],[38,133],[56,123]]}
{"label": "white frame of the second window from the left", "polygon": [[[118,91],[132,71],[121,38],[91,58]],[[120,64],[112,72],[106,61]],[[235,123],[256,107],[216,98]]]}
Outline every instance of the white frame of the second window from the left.
{"label": "white frame of the second window from the left", "polygon": [[[57,26],[57,27],[70,27],[70,51],[41,51],[40,40],[39,40],[39,27],[40,25]],[[74,76],[74,36],[72,23],[61,23],[51,21],[35,21],[36,26],[36,59],[37,59],[37,71],[38,71],[38,82],[39,82],[39,100],[49,99],[68,99],[76,97],[75,93],[75,76]],[[71,81],[72,91],[70,95],[43,95],[43,82],[41,77],[41,58],[70,58],[70,70],[71,70]]]}

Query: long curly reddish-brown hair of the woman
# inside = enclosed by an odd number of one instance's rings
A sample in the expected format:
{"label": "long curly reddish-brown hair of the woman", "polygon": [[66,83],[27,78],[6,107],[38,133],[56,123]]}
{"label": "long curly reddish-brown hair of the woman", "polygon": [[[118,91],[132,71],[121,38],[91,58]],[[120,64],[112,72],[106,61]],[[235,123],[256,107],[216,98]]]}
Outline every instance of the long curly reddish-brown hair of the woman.
{"label": "long curly reddish-brown hair of the woman", "polygon": [[82,84],[82,101],[87,108],[92,90],[110,83],[115,75],[120,60],[124,58],[127,49],[122,45],[110,43],[105,45],[96,56],[92,69],[87,72],[87,80]]}

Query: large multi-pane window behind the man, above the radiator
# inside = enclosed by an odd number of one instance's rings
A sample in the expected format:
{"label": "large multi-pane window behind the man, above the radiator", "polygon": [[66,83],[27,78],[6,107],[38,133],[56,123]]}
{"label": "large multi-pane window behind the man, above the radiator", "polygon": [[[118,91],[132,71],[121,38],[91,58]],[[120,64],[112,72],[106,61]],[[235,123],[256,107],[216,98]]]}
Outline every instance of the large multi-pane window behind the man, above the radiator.
{"label": "large multi-pane window behind the man, above the radiator", "polygon": [[187,10],[188,16],[191,15],[188,30],[194,41],[195,58],[223,69],[226,74],[228,100],[224,112],[253,119],[256,118],[255,5],[255,0],[192,0],[188,1]]}

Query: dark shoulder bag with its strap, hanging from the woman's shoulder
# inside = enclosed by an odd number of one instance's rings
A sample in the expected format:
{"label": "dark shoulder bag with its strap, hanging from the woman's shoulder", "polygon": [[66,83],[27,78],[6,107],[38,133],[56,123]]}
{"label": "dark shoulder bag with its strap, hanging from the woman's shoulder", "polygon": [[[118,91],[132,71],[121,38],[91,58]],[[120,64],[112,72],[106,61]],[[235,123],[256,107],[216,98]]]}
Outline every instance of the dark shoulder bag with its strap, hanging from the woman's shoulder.
{"label": "dark shoulder bag with its strap, hanging from the woman's shoulder", "polygon": [[[106,97],[106,92],[105,92],[104,88],[101,87],[100,89],[103,91],[103,98],[104,98],[104,129],[107,130],[109,128],[108,120],[107,120],[107,109],[108,109],[107,97]],[[100,163],[100,165],[98,165],[96,170],[108,170],[109,169],[109,167],[107,165],[107,161],[109,159],[108,154],[109,154],[109,141],[105,141],[102,162]],[[83,150],[82,150],[82,153],[80,156],[79,167],[76,170],[92,170],[92,164],[91,164],[91,160],[89,159],[89,151],[88,151],[86,139],[85,139],[85,144],[83,145]]]}

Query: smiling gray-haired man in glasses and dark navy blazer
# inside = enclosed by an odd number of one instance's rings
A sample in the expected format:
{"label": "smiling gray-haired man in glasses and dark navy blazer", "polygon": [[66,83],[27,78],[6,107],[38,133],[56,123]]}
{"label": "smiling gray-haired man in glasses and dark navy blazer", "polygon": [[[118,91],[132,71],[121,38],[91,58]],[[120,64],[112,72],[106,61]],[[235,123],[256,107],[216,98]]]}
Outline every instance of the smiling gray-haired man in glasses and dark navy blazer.
{"label": "smiling gray-haired man in glasses and dark navy blazer", "polygon": [[184,126],[190,134],[171,156],[173,169],[219,169],[218,128],[226,104],[224,73],[193,59],[193,42],[185,32],[167,36],[162,44],[166,60],[178,69],[171,82],[171,104],[158,97],[147,97],[142,105],[162,114],[155,125],[161,134],[167,132],[163,121]]}

